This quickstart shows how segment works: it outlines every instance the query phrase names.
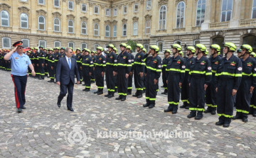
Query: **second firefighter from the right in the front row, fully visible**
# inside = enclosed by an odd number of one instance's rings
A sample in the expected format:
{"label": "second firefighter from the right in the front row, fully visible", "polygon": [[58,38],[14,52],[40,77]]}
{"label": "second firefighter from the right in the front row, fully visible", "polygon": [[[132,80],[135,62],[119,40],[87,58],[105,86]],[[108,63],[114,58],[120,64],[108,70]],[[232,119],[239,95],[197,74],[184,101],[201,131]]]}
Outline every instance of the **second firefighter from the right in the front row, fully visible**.
{"label": "second firefighter from the right in the front row, fully visible", "polygon": [[[203,111],[205,106],[206,88],[210,84],[212,72],[210,61],[204,57],[206,46],[203,44],[196,45],[197,57],[192,60],[188,75],[189,84],[189,110],[191,113],[188,118],[196,116],[196,120],[203,118]],[[198,111],[198,113],[196,113]]]}

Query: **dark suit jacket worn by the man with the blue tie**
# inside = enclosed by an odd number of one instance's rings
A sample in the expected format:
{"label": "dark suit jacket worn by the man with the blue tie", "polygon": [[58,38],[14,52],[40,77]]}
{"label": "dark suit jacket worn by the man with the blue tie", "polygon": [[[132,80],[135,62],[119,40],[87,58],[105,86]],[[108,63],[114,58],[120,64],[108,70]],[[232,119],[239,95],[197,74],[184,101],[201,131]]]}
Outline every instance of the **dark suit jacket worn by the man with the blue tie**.
{"label": "dark suit jacket worn by the man with the blue tie", "polygon": [[67,85],[71,81],[75,84],[75,76],[77,80],[80,81],[79,73],[78,73],[78,64],[73,57],[70,57],[71,60],[71,69],[68,66],[68,61],[65,57],[60,58],[58,60],[57,68],[56,68],[56,82],[60,81],[60,84]]}

